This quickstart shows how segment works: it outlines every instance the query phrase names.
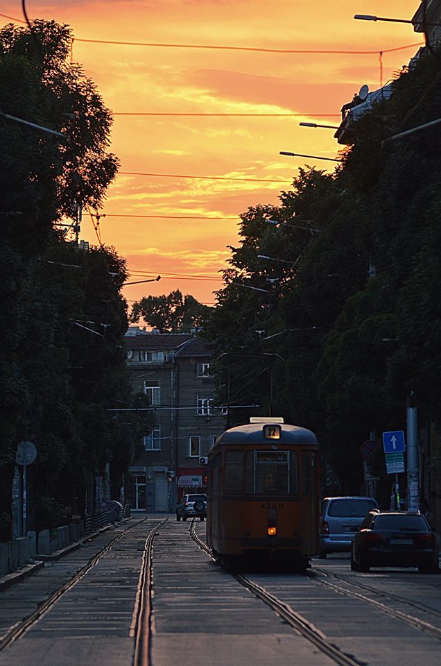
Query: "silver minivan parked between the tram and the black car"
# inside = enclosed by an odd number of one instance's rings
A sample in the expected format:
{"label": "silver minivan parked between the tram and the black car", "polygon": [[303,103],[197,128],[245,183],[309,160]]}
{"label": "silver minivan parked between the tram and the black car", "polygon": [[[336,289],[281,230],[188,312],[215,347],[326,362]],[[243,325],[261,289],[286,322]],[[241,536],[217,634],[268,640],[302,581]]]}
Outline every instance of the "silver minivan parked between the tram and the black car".
{"label": "silver minivan parked between the tram and the black car", "polygon": [[325,558],[328,553],[349,552],[354,534],[372,509],[379,509],[374,497],[325,497],[318,556]]}

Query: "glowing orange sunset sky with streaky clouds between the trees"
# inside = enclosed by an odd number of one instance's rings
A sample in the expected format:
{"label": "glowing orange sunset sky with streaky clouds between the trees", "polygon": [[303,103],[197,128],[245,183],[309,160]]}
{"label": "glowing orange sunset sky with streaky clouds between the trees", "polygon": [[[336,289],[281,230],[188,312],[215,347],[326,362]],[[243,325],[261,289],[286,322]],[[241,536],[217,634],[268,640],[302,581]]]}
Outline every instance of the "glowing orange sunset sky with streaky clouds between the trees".
{"label": "glowing orange sunset sky with streaky clouds between the trees", "polygon": [[[299,122],[338,125],[340,108],[362,84],[379,87],[379,51],[410,45],[383,53],[386,83],[417,51],[411,45],[423,42],[411,25],[356,21],[354,14],[410,19],[419,5],[419,0],[26,1],[31,19],[55,19],[73,29],[74,60],[115,114],[111,151],[119,156],[121,171],[173,176],[121,173],[107,191],[103,242],[126,257],[134,271],[130,280],[142,280],[140,272],[144,279],[162,275],[161,282],[126,287],[129,302],[179,288],[214,303],[218,271],[230,256],[227,246],[238,243],[239,214],[258,203],[277,204],[279,191],[289,189],[305,162],[333,169],[332,162],[279,155],[336,157],[333,130],[302,128]],[[8,23],[4,15],[24,19],[20,0],[3,0],[1,12],[0,25]],[[80,237],[96,244],[87,216]]]}

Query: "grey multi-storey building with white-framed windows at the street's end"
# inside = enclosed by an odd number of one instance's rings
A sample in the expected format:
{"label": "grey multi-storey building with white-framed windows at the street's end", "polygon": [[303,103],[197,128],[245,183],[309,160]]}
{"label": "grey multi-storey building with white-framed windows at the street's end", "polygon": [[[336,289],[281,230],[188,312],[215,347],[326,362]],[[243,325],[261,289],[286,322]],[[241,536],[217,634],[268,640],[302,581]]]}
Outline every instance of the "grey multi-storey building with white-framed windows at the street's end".
{"label": "grey multi-storey building with white-framed windows at the street's end", "polygon": [[215,404],[211,357],[193,334],[143,332],[126,336],[134,393],[148,397],[155,415],[144,452],[129,469],[133,511],[173,512],[183,493],[205,492],[209,447],[225,430],[225,407]]}

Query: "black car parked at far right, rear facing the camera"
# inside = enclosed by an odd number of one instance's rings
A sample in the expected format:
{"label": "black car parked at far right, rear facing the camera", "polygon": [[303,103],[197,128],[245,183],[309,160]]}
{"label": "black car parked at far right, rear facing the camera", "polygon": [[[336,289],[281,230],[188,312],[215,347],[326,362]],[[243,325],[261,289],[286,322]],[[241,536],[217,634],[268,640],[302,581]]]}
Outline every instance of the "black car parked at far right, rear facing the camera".
{"label": "black car parked at far right, rear facing the camera", "polygon": [[387,566],[438,572],[435,534],[419,511],[370,511],[363,520],[352,545],[351,569]]}

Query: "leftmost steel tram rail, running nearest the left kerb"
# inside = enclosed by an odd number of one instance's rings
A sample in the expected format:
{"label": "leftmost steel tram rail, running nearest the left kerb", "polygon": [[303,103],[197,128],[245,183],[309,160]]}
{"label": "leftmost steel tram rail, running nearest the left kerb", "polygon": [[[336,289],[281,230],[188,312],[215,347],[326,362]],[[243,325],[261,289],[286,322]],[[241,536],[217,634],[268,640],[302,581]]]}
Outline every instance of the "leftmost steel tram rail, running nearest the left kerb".
{"label": "leftmost steel tram rail, running nearest the left kerb", "polygon": [[24,618],[24,620],[21,620],[12,626],[0,640],[0,651],[10,643],[17,640],[17,638],[20,638],[20,636],[23,635],[35,622],[37,622],[37,620],[40,620],[40,618],[47,613],[51,606],[53,606],[56,601],[58,601],[58,599],[60,599],[68,590],[73,588],[76,583],[78,583],[78,581],[80,581],[80,579],[82,579],[85,574],[87,574],[87,572],[89,572],[96,565],[101,557],[103,557],[103,555],[105,555],[112,548],[112,546],[114,546],[117,541],[123,538],[123,536],[125,536],[132,529],[138,527],[139,524],[145,520],[147,520],[147,518],[139,520],[139,522],[137,522],[135,525],[131,525],[130,527],[124,529],[118,536],[107,543],[100,552],[96,553],[96,555],[90,558],[88,563],[82,569],[80,569],[78,573],[70,579],[70,581],[64,583],[61,588],[56,590],[56,592],[53,592],[53,595],[46,599],[46,601],[43,601],[42,604],[40,604],[40,606],[38,606],[38,608],[34,610],[33,613],[31,613],[31,615],[28,615]]}

